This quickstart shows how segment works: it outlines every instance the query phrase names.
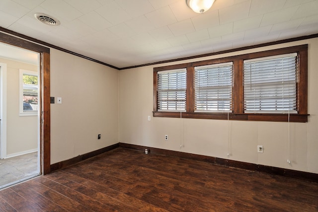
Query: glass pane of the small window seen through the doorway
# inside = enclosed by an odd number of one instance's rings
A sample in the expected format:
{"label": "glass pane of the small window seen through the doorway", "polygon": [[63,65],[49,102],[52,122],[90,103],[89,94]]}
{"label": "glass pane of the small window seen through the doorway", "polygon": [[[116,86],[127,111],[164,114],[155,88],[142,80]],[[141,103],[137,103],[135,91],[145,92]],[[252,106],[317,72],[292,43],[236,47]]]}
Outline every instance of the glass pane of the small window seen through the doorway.
{"label": "glass pane of the small window seen through the doorway", "polygon": [[38,110],[38,76],[23,74],[23,112]]}

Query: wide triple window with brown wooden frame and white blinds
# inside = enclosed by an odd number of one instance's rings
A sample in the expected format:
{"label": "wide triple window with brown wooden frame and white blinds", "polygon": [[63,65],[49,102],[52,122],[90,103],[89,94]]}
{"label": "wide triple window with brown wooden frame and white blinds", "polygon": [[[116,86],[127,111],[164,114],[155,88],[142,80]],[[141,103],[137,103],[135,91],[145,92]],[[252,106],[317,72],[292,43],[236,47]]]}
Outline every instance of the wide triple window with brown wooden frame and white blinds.
{"label": "wide triple window with brown wooden frame and white blinds", "polygon": [[154,117],[307,122],[308,45],[154,68]]}

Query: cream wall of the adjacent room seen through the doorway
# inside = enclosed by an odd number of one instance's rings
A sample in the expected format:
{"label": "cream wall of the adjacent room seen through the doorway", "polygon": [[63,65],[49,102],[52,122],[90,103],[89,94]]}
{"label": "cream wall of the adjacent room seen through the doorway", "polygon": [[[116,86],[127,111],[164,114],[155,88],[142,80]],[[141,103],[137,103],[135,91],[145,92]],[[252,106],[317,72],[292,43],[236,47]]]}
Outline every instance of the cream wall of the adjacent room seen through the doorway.
{"label": "cream wall of the adjacent room seen through the doorway", "polygon": [[38,146],[38,117],[19,116],[19,69],[37,73],[38,67],[3,58],[0,58],[0,63],[6,64],[7,69],[6,154],[32,151]]}

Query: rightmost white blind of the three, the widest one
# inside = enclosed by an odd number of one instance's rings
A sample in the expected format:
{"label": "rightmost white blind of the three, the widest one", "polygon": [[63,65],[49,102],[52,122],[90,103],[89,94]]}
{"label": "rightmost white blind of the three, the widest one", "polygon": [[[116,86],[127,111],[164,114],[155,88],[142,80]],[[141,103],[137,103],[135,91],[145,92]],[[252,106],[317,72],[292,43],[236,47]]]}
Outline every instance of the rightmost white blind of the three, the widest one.
{"label": "rightmost white blind of the three, the widest one", "polygon": [[244,61],[245,113],[297,113],[297,53]]}

